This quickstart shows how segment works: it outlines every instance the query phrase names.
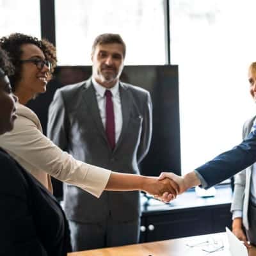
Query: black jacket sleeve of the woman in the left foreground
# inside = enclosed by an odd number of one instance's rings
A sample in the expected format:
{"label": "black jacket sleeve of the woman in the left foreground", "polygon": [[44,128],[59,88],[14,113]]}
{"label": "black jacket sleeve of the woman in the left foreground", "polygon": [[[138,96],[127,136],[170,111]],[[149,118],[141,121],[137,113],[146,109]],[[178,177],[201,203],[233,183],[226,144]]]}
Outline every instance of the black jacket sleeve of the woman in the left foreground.
{"label": "black jacket sleeve of the woman in the left foreground", "polygon": [[28,184],[19,166],[3,152],[0,152],[0,166],[0,255],[47,256],[36,236]]}

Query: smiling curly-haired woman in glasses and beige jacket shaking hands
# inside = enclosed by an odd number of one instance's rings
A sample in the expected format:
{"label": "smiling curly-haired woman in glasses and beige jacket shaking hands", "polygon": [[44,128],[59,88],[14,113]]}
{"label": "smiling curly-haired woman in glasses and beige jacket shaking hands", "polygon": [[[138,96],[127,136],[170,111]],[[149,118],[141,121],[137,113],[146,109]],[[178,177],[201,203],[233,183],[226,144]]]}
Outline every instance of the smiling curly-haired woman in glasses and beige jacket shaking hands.
{"label": "smiling curly-haired woman in glasses and beige jacket shaking hands", "polygon": [[19,97],[14,129],[0,137],[0,146],[49,191],[52,192],[52,175],[97,197],[104,189],[143,190],[152,195],[162,195],[166,191],[176,194],[171,180],[159,182],[156,177],[111,172],[77,161],[54,145],[42,134],[38,117],[25,106],[28,100],[46,90],[47,81],[56,66],[54,46],[47,40],[19,33],[0,38],[0,46],[10,54],[15,66],[10,81],[13,92]]}

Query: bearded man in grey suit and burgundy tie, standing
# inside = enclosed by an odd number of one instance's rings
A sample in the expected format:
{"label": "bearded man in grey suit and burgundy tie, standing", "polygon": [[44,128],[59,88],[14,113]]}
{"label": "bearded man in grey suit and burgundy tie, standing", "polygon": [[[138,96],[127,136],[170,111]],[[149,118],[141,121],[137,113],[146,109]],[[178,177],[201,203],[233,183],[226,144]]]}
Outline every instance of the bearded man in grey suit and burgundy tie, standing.
{"label": "bearded man in grey suit and burgundy tie, standing", "polygon": [[[141,88],[119,81],[125,44],[119,35],[97,36],[93,75],[56,92],[48,136],[76,159],[109,170],[139,173],[152,135],[152,102]],[[138,243],[140,194],[105,191],[99,199],[65,184],[64,209],[73,250]]]}

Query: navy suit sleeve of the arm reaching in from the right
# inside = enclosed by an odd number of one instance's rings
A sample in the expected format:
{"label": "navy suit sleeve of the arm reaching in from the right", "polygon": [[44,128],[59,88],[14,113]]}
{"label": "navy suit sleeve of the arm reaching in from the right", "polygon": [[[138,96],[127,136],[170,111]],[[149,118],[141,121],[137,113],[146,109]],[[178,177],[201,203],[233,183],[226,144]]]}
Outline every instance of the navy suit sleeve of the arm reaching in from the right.
{"label": "navy suit sleeve of the arm reaching in from the right", "polygon": [[241,172],[256,161],[256,132],[251,132],[244,141],[231,150],[196,168],[210,188],[232,175]]}

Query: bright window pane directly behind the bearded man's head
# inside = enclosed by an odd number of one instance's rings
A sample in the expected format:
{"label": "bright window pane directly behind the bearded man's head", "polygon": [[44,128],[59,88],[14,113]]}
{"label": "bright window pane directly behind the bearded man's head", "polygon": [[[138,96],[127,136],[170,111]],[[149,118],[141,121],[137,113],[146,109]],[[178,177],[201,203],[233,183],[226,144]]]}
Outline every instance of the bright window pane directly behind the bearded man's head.
{"label": "bright window pane directly behind the bearded man's head", "polygon": [[[165,63],[163,0],[56,0],[58,65],[91,65],[93,40],[119,33],[125,65]],[[72,8],[72,10],[71,10]]]}

